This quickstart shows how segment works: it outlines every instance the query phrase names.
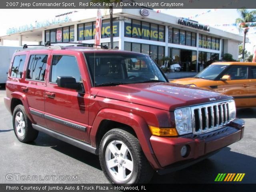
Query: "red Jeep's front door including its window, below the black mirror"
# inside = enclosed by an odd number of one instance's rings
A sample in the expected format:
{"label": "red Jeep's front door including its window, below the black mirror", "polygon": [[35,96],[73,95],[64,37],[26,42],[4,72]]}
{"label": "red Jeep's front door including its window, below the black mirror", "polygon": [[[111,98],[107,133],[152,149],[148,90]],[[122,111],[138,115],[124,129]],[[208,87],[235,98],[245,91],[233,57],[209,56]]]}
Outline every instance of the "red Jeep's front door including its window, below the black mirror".
{"label": "red Jeep's front door including its window, below the black mirror", "polygon": [[46,84],[45,119],[47,127],[74,139],[88,142],[89,95],[77,90],[59,87],[58,76],[72,76],[81,82],[76,56],[52,55]]}

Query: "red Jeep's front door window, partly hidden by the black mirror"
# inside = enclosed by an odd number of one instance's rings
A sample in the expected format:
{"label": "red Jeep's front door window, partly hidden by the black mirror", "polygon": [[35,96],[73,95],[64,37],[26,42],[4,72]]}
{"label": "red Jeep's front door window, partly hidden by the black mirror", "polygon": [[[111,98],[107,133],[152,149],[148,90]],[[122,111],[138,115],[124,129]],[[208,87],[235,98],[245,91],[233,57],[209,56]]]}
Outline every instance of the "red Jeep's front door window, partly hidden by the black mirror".
{"label": "red Jeep's front door window, partly hidden by the black mirror", "polygon": [[54,55],[52,57],[52,72],[50,82],[56,83],[61,76],[72,76],[80,82],[80,72],[74,56]]}

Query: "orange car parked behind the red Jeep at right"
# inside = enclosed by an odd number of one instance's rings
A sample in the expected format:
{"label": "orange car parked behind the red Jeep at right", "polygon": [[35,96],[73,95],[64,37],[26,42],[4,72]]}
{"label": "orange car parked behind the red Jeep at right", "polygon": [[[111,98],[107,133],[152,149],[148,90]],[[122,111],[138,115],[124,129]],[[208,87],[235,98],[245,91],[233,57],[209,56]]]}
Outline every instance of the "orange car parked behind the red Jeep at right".
{"label": "orange car parked behind the red Jeep at right", "polygon": [[237,108],[256,107],[256,62],[217,62],[194,78],[171,82],[233,96]]}

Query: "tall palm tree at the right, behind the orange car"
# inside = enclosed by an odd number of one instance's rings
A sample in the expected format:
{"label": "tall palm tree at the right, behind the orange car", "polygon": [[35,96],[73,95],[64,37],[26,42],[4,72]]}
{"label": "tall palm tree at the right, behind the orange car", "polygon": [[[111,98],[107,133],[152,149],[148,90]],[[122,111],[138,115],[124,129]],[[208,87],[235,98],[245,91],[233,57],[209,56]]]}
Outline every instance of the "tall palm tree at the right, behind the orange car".
{"label": "tall palm tree at the right, behind the orange car", "polygon": [[246,39],[246,34],[248,32],[248,27],[249,27],[248,22],[256,22],[256,10],[249,11],[245,8],[242,8],[242,9],[237,9],[237,11],[240,14],[240,18],[236,19],[236,24],[239,24],[240,32],[242,32],[242,29],[244,28],[244,40],[243,40],[243,51],[242,51],[242,60],[244,60],[245,39]]}

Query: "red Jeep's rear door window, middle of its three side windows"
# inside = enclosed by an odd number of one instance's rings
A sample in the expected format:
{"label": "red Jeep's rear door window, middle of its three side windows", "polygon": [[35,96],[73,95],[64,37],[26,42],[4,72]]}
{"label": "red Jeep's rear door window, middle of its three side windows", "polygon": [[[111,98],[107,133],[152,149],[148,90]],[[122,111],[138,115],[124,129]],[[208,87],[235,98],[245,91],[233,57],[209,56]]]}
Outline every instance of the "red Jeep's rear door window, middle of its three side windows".
{"label": "red Jeep's rear door window, middle of its three side windows", "polygon": [[26,79],[44,81],[48,55],[31,55]]}

